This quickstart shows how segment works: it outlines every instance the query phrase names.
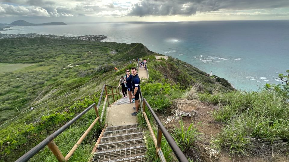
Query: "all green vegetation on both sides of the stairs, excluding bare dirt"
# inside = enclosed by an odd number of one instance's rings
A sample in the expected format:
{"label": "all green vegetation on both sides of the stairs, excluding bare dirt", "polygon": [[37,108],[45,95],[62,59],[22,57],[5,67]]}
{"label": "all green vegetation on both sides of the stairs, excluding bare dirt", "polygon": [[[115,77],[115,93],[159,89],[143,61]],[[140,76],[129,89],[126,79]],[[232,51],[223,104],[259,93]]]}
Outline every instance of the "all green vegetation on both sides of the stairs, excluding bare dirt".
{"label": "all green vegetation on both sides of the stairs, excluding bare dirt", "polygon": [[[168,60],[157,60],[154,55],[159,54],[138,43],[38,37],[0,39],[0,44],[0,52],[3,53],[0,55],[1,67],[29,64],[0,73],[0,123],[7,122],[0,128],[0,161],[16,160],[86,107],[97,103],[103,84],[117,86],[125,69],[135,66],[129,64],[129,60],[148,57],[149,79],[141,82],[141,91],[160,119],[170,115],[174,99],[217,105],[212,112],[206,113],[212,114],[213,123],[221,125],[220,132],[211,135],[210,139],[201,138],[197,123],[192,123],[193,117],[186,120],[188,117],[181,116],[180,119],[187,123],[177,121],[179,125],[168,128],[190,161],[201,161],[197,144],[202,140],[211,141],[212,148],[228,152],[234,157],[267,154],[268,150],[268,155],[271,155],[273,150],[275,153],[279,149],[275,143],[288,142],[287,74],[280,75],[283,85],[268,84],[257,92],[243,92],[232,88],[225,79],[208,77],[203,71],[178,59],[169,57]],[[114,67],[119,70],[115,71]],[[29,110],[31,106],[34,107],[33,111]],[[102,110],[98,111],[100,113]],[[156,128],[151,113],[148,110],[146,113]],[[17,116],[14,120],[8,120],[14,116]],[[95,117],[94,110],[90,110],[54,139],[63,155],[73,147]],[[146,128],[140,113],[138,121]],[[96,124],[70,161],[89,161],[100,131]],[[148,161],[158,161],[149,133],[146,139]],[[174,161],[172,150],[164,137],[163,141],[162,151],[167,161]],[[288,144],[284,148],[288,149]],[[39,159],[56,161],[48,147],[31,161]]]}

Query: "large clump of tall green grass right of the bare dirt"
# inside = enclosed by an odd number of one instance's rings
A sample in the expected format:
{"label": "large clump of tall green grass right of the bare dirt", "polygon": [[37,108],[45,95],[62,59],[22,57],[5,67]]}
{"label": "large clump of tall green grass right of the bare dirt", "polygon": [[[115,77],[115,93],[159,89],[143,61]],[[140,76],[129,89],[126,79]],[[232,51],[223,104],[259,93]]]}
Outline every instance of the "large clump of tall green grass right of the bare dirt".
{"label": "large clump of tall green grass right of the bare dirt", "polygon": [[215,119],[224,123],[222,132],[212,140],[216,147],[248,156],[266,149],[258,141],[289,139],[289,104],[275,91],[218,92],[200,98],[220,104],[219,110],[213,111]]}

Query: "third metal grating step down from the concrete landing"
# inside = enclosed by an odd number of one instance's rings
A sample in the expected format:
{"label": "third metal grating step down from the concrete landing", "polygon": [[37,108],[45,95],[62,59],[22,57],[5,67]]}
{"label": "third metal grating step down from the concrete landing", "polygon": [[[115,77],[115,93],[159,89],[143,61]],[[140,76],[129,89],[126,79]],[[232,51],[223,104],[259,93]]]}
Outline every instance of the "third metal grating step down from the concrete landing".
{"label": "third metal grating step down from the concrete landing", "polygon": [[136,138],[143,138],[142,132],[125,134],[125,135],[120,135],[120,136],[102,137],[100,141],[103,144],[103,143],[111,143],[111,142],[117,142],[117,141],[132,140]]}

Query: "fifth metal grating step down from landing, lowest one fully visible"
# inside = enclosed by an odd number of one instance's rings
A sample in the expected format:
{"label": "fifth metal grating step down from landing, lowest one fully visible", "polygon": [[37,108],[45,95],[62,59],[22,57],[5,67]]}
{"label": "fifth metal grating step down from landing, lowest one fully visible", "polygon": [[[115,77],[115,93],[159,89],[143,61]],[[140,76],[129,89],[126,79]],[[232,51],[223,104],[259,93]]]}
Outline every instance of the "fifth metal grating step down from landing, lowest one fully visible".
{"label": "fifth metal grating step down from landing, lowest one fully visible", "polygon": [[110,152],[96,152],[92,161],[112,161],[123,158],[131,158],[144,155],[146,151],[145,146],[131,147],[127,149],[113,150]]}

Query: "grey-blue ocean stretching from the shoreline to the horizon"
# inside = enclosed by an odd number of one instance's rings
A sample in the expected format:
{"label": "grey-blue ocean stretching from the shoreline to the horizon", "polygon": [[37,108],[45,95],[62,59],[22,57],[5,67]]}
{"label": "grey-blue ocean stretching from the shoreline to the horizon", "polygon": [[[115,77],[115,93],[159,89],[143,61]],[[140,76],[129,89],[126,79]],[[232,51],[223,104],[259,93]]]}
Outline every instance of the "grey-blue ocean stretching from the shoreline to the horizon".
{"label": "grey-blue ocean stretching from the shoreline to the horizon", "polygon": [[17,26],[7,34],[106,35],[104,41],[142,43],[227,79],[239,90],[281,84],[289,70],[289,20],[67,23]]}

